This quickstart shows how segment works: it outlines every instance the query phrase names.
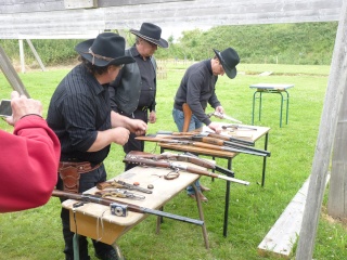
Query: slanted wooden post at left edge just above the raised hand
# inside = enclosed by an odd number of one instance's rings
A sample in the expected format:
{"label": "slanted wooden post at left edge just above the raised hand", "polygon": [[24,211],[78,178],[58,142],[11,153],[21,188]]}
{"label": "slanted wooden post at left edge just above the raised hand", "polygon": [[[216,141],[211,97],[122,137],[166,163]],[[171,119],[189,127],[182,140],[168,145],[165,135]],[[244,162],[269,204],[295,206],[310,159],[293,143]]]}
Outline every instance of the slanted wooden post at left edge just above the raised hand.
{"label": "slanted wooden post at left edge just above the raised hand", "polygon": [[0,68],[3,75],[7,77],[8,81],[10,82],[12,89],[16,90],[20,94],[25,94],[27,98],[30,98],[29,93],[26,91],[22,80],[20,79],[17,73],[15,72],[14,67],[10,62],[10,58],[8,57],[1,46]]}

